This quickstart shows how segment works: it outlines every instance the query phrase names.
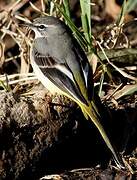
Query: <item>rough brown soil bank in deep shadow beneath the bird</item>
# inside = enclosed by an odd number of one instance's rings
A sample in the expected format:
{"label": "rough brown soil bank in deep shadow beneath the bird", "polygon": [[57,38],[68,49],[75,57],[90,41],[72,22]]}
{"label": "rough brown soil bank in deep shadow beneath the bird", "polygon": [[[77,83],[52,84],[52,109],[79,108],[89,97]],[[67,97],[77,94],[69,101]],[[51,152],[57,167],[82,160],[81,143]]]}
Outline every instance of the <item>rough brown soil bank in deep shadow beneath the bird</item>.
{"label": "rough brown soil bank in deep shadow beneath the bird", "polygon": [[113,128],[107,130],[124,151],[123,171],[115,167],[98,131],[80,109],[67,98],[44,92],[30,98],[0,94],[1,179],[39,179],[45,174],[65,180],[137,178],[136,107],[110,108]]}

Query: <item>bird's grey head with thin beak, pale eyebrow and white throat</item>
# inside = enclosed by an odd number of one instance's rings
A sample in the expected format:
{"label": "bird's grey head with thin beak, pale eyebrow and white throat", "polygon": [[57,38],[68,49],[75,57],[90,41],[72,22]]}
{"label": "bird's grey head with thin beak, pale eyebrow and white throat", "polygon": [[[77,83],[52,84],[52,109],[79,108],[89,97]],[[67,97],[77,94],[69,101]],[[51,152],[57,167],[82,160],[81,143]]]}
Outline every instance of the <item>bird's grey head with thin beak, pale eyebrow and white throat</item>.
{"label": "bird's grey head with thin beak, pale eyebrow and white throat", "polygon": [[34,19],[32,24],[28,25],[34,32],[35,38],[53,36],[57,37],[66,31],[66,25],[58,18],[45,16]]}

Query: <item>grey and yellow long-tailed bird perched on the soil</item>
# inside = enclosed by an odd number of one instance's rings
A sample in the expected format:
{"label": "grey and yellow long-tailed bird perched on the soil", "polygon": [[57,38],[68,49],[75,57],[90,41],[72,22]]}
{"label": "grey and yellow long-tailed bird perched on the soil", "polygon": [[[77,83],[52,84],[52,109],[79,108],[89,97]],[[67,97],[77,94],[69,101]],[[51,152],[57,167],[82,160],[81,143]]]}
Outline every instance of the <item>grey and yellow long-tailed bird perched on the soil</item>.
{"label": "grey and yellow long-tailed bird perched on the soil", "polygon": [[34,31],[31,65],[38,80],[51,92],[64,95],[78,104],[111,151],[116,166],[123,169],[122,158],[112,146],[94,102],[93,73],[87,56],[70,28],[53,16],[41,16],[25,26]]}

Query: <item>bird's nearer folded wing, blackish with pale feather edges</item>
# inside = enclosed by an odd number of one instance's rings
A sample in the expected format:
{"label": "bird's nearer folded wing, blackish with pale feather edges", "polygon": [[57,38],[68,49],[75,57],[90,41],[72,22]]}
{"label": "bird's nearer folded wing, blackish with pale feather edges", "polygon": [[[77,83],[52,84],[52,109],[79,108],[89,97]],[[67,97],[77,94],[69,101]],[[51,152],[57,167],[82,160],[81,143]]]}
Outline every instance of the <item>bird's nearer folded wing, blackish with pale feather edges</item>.
{"label": "bird's nearer folded wing, blackish with pale feather edges", "polygon": [[34,61],[39,66],[42,73],[60,90],[73,97],[79,102],[87,105],[87,102],[82,95],[77,83],[74,80],[72,71],[65,64],[59,64],[55,57],[38,53],[34,48]]}

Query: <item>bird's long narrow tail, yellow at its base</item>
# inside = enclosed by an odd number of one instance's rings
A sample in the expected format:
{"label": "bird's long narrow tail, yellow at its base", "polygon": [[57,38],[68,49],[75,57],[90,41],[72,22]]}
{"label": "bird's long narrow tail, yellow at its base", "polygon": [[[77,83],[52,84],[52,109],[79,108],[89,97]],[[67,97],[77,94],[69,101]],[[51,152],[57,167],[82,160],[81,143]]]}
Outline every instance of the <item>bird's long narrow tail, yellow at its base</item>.
{"label": "bird's long narrow tail, yellow at its base", "polygon": [[110,149],[110,151],[113,154],[114,161],[115,161],[117,167],[120,168],[120,169],[124,169],[125,167],[123,165],[123,161],[120,158],[120,156],[116,153],[116,151],[114,150],[114,148],[113,148],[113,146],[112,146],[112,144],[111,144],[111,142],[110,142],[110,140],[109,140],[109,138],[108,138],[108,136],[107,136],[107,134],[106,134],[106,132],[105,132],[105,130],[103,128],[103,126],[99,122],[98,113],[97,113],[97,111],[95,109],[96,107],[95,107],[95,105],[94,106],[93,105],[94,105],[94,103],[93,104],[90,103],[89,106],[80,105],[80,107],[81,107],[85,117],[86,118],[89,117],[92,120],[92,122],[95,124],[97,129],[99,130],[99,132],[100,132],[102,138],[104,139],[106,145],[108,146],[108,148]]}

